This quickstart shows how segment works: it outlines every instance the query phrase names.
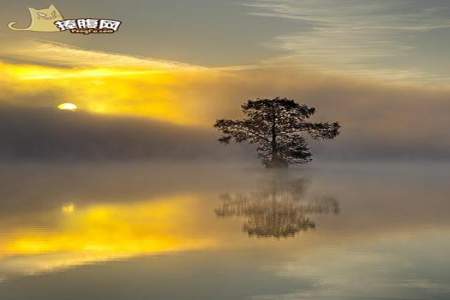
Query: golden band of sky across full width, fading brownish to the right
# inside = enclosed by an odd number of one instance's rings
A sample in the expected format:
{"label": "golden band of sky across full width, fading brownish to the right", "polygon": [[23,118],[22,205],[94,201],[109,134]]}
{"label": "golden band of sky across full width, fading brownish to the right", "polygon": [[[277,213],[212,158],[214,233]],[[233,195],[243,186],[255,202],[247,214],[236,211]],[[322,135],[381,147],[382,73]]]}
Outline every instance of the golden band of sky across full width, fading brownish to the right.
{"label": "golden band of sky across full width, fading brownish to the right", "polygon": [[[282,95],[303,101],[309,97],[305,102],[325,102],[322,110],[328,115],[339,101],[359,106],[358,98],[380,98],[381,92],[386,97],[366,104],[396,103],[393,96],[409,90],[414,91],[410,104],[416,105],[417,94],[436,98],[449,91],[442,84],[387,82],[383,77],[360,78],[331,70],[264,65],[213,68],[50,42],[5,45],[0,56],[8,58],[0,61],[4,104],[56,107],[70,102],[90,113],[202,127],[210,127],[215,118],[236,115],[240,103],[249,98]],[[335,103],[327,99],[330,90],[339,90]]]}

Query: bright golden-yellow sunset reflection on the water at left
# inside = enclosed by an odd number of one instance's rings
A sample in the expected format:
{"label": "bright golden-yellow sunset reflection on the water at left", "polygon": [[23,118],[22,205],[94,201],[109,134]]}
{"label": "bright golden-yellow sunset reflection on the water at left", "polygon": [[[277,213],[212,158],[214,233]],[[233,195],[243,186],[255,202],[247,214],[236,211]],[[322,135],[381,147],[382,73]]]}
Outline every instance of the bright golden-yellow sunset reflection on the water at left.
{"label": "bright golden-yellow sunset reflection on the water at left", "polygon": [[[172,251],[213,247],[216,240],[191,232],[196,199],[176,197],[131,204],[97,204],[45,213],[49,224],[8,229],[0,262],[28,262],[27,272]],[[43,216],[35,216],[42,220]],[[36,269],[33,269],[35,266]]]}

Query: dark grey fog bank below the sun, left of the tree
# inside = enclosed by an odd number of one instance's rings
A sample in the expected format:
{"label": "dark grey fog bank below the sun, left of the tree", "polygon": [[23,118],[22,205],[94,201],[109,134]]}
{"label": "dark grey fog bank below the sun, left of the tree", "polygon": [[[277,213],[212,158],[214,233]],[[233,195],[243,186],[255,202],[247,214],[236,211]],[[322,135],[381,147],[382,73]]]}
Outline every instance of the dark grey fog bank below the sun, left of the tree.
{"label": "dark grey fog bank below the sun, left of the tree", "polygon": [[192,161],[226,151],[207,130],[52,108],[1,107],[0,136],[3,160]]}

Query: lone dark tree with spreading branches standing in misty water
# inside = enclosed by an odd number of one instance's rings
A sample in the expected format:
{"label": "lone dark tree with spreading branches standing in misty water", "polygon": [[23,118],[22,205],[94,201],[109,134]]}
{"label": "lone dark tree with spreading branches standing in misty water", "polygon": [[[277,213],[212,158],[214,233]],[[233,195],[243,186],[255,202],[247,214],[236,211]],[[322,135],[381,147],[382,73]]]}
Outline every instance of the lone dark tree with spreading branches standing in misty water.
{"label": "lone dark tree with spreading branches standing in misty water", "polygon": [[223,133],[220,142],[256,144],[266,167],[287,167],[311,161],[305,133],[313,139],[333,139],[339,134],[337,122],[307,122],[315,111],[286,98],[248,100],[242,105],[244,119],[217,120],[214,127]]}

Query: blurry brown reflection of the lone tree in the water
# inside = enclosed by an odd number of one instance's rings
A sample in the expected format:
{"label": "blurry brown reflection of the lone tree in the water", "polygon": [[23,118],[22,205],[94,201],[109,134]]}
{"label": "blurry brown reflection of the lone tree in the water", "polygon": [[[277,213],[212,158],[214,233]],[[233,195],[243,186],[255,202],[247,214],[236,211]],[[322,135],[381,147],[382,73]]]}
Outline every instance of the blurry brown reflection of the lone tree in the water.
{"label": "blurry brown reflection of the lone tree in the water", "polygon": [[317,214],[337,214],[339,204],[331,196],[307,194],[305,178],[272,178],[254,192],[221,195],[218,217],[245,218],[243,231],[256,237],[293,237],[316,227]]}

